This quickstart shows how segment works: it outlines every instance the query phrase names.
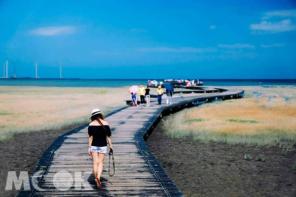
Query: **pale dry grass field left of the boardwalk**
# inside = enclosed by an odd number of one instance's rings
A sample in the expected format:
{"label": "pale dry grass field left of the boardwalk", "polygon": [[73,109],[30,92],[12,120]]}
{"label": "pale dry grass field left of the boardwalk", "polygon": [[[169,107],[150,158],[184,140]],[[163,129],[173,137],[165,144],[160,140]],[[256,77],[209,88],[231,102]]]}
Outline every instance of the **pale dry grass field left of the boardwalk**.
{"label": "pale dry grass field left of the boardwalk", "polygon": [[93,108],[107,114],[124,99],[130,99],[127,88],[0,87],[0,141],[87,123]]}

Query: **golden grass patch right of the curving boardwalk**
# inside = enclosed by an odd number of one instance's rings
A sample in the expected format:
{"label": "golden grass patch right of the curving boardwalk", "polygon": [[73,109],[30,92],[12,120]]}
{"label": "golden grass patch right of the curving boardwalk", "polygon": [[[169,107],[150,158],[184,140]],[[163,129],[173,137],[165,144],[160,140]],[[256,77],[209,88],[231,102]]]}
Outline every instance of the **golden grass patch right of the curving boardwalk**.
{"label": "golden grass patch right of the curving boardwalk", "polygon": [[236,87],[243,99],[182,110],[164,123],[171,137],[240,145],[296,144],[296,86]]}

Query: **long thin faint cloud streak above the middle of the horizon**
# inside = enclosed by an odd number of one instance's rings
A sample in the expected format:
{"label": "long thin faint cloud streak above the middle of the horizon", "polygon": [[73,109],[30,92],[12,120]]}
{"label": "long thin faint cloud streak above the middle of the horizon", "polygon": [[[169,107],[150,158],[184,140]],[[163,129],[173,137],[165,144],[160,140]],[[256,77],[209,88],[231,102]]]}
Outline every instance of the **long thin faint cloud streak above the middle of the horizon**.
{"label": "long thin faint cloud streak above the middle of the horizon", "polygon": [[166,52],[166,53],[210,53],[215,52],[215,47],[195,48],[195,47],[181,47],[181,48],[168,48],[168,47],[145,47],[138,48],[140,52]]}

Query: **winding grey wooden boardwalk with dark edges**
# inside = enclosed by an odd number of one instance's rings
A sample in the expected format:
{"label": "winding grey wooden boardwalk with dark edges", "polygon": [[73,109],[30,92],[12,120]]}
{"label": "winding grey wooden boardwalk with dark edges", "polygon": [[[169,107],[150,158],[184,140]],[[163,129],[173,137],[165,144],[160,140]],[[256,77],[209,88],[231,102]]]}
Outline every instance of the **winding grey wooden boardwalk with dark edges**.
{"label": "winding grey wooden boardwalk with dark edges", "polygon": [[[87,180],[75,172],[92,173],[92,158],[87,154],[87,125],[60,136],[44,152],[36,171],[42,170],[38,177],[31,177],[31,190],[22,190],[19,197],[53,196],[143,196],[174,197],[183,196],[161,165],[148,150],[145,143],[153,128],[162,116],[217,99],[240,98],[244,93],[237,89],[219,89],[218,93],[196,96],[174,96],[171,105],[156,105],[151,99],[151,107],[125,107],[107,116],[112,131],[112,144],[115,158],[115,175],[108,175],[109,157],[106,155],[102,175],[103,189],[98,190],[91,174]],[[69,190],[58,190],[53,184],[57,172],[65,170],[71,174],[64,181],[71,182]],[[72,178],[73,177],[73,178]],[[34,181],[37,178],[37,181]],[[33,181],[32,181],[33,180]],[[74,185],[88,182],[90,187],[75,188]],[[36,183],[42,191],[34,189]],[[62,181],[63,182],[63,181]],[[71,186],[70,185],[70,186]]]}

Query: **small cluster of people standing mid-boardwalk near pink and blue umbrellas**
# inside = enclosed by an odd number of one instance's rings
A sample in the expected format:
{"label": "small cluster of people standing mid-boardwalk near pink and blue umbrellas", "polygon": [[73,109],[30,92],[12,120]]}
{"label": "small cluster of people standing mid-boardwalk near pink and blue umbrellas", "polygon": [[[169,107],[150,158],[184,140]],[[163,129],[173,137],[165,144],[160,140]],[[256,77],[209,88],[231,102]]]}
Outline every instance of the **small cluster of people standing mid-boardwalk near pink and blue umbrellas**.
{"label": "small cluster of people standing mid-boardwalk near pink and blue umbrellas", "polygon": [[[147,107],[150,106],[150,91],[151,91],[151,89],[148,86],[146,86],[146,88],[144,88],[143,84],[140,85],[140,88],[138,91],[139,95],[140,95],[140,105],[145,105],[145,98],[146,98],[146,106]],[[133,106],[138,106],[136,94],[137,93],[131,93],[132,100],[133,100]],[[156,94],[157,94],[158,105],[161,105],[162,96],[163,96],[163,90],[162,90],[161,85],[158,86]],[[172,104],[173,92],[166,90],[166,95],[167,95],[166,103]]]}

